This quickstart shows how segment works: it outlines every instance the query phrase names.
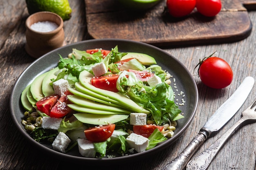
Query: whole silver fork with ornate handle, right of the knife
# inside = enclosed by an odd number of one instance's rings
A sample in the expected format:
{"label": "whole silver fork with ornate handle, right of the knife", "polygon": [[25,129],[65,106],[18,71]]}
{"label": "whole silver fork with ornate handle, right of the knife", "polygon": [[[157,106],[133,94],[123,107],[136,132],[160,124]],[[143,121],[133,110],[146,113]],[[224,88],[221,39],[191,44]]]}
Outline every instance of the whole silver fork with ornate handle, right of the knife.
{"label": "whole silver fork with ornate handle, right of the knife", "polygon": [[[186,170],[206,170],[211,161],[215,158],[223,144],[230,135],[247,120],[256,120],[256,101],[242,112],[243,116],[227,130],[219,139],[217,139],[209,148],[204,150],[195,158],[191,159],[186,165]],[[216,122],[218,123],[218,122]]]}

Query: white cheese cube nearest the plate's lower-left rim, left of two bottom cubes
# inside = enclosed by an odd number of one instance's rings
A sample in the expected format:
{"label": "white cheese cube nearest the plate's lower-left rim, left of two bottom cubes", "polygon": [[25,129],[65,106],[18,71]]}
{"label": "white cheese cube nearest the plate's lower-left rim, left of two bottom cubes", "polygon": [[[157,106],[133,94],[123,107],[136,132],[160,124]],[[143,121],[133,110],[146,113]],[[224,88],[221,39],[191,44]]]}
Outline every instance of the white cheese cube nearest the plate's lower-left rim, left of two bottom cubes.
{"label": "white cheese cube nearest the plate's lower-left rim, left of two bottom cubes", "polygon": [[54,150],[64,153],[70,142],[71,140],[67,137],[65,133],[59,132],[52,143],[52,147]]}

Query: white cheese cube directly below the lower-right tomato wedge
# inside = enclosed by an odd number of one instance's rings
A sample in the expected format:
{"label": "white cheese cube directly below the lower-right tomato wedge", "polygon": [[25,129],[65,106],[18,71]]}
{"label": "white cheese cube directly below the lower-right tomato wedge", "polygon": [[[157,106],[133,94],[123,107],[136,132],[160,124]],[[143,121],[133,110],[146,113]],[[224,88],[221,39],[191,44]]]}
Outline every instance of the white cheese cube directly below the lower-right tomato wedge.
{"label": "white cheese cube directly below the lower-right tomato wedge", "polygon": [[148,147],[148,138],[137,135],[136,133],[131,133],[126,138],[126,141],[130,148],[134,148],[137,152],[143,152]]}

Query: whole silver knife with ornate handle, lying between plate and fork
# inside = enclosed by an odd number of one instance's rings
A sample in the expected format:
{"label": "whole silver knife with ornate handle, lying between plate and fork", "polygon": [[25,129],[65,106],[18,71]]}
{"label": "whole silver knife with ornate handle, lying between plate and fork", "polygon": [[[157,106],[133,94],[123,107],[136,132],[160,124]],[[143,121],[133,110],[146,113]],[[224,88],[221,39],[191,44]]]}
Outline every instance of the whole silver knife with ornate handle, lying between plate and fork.
{"label": "whole silver knife with ornate handle, lying between plate and fork", "polygon": [[239,110],[247,99],[253,85],[254,78],[250,76],[245,77],[233,95],[231,95],[204,124],[198,135],[196,135],[180,155],[168,163],[163,170],[183,170],[195,151],[198,150],[211,133],[220,130],[220,128],[222,128]]}

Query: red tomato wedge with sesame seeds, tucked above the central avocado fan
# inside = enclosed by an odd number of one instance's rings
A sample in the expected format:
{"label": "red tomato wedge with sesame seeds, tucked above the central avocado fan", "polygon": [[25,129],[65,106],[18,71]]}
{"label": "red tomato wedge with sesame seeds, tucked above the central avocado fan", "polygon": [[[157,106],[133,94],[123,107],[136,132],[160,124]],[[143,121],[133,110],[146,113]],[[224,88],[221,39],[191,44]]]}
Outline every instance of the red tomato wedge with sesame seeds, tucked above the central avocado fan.
{"label": "red tomato wedge with sesame seeds, tucked above the central avocado fan", "polygon": [[119,75],[110,74],[99,77],[92,77],[92,85],[108,91],[118,92],[117,90],[117,79]]}

